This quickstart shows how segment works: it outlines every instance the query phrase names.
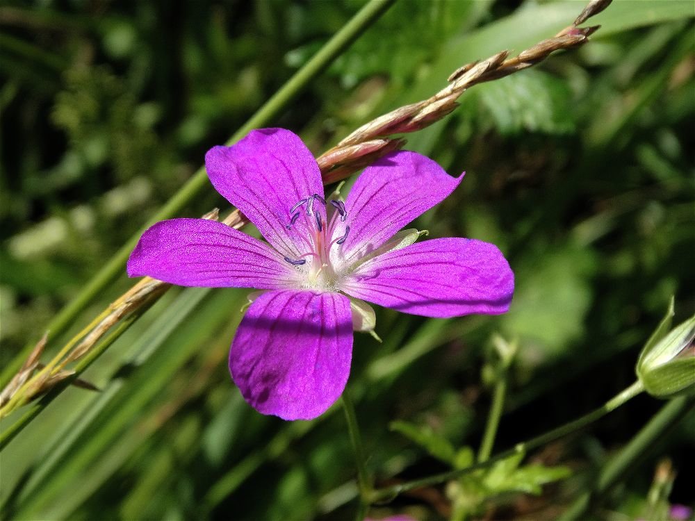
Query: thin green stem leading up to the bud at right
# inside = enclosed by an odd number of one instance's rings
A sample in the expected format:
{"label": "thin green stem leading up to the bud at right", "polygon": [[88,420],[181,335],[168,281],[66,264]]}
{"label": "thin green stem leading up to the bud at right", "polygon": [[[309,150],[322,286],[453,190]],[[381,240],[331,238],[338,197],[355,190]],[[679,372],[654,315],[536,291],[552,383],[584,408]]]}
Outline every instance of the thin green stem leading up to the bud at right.
{"label": "thin green stem leading up to the bud at right", "polygon": [[489,458],[487,461],[475,463],[475,465],[471,465],[470,467],[466,467],[464,469],[452,470],[450,472],[443,472],[441,474],[434,474],[434,476],[426,477],[423,479],[406,481],[405,483],[400,483],[399,485],[373,490],[369,497],[369,500],[370,502],[388,501],[390,499],[393,499],[393,497],[397,496],[398,494],[406,492],[407,490],[421,488],[424,486],[436,485],[438,483],[443,483],[445,481],[457,479],[458,477],[464,474],[469,474],[474,470],[487,468],[493,463],[508,458],[513,454],[528,453],[532,449],[536,449],[537,447],[546,445],[546,443],[550,443],[551,441],[557,440],[558,438],[562,438],[567,434],[573,433],[575,431],[578,431],[579,429],[582,429],[583,427],[586,427],[587,425],[598,420],[600,417],[607,415],[608,413],[614,411],[616,408],[619,408],[626,402],[629,402],[630,399],[639,395],[639,393],[643,390],[644,386],[642,386],[641,382],[636,381],[630,387],[619,392],[619,394],[608,400],[605,404],[603,404],[603,406],[600,406],[594,411],[591,411],[591,413],[588,413],[578,418],[577,420],[573,420],[572,422],[561,425],[560,427],[557,427],[557,429],[553,429],[552,431],[541,434],[540,436],[532,438],[526,442],[518,443],[513,449],[509,449],[496,456],[493,456],[492,458]]}

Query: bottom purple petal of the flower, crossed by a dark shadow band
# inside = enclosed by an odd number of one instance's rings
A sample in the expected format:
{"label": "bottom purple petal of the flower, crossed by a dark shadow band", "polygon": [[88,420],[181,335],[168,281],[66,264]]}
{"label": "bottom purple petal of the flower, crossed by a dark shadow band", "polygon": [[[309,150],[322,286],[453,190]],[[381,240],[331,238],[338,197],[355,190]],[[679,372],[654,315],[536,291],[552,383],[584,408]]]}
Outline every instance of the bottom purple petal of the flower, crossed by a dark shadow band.
{"label": "bottom purple petal of the flower, crossed by a dark shadow band", "polygon": [[272,291],[251,304],[229,370],[259,413],[311,420],[345,389],[352,359],[350,300],[338,293]]}

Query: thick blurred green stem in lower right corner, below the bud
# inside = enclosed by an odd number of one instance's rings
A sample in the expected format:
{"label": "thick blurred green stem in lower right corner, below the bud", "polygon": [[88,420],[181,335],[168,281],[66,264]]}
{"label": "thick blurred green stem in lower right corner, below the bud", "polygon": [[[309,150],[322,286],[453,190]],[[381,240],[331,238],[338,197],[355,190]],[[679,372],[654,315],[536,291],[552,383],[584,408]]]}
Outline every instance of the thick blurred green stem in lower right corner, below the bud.
{"label": "thick blurred green stem in lower right corner, below the bud", "polygon": [[582,494],[560,518],[562,521],[584,519],[587,509],[594,500],[613,486],[628,470],[635,465],[641,456],[673,427],[678,420],[695,408],[695,397],[674,398],[652,417],[649,422],[635,435],[630,443],[623,447],[600,470],[594,490]]}

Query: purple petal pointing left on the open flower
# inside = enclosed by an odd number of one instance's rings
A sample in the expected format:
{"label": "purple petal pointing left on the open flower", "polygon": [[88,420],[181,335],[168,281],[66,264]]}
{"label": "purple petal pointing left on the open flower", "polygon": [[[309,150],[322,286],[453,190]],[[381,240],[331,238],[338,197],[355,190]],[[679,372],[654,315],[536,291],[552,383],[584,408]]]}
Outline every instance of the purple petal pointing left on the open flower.
{"label": "purple petal pointing left on the open flower", "polygon": [[297,272],[277,251],[250,235],[204,219],[172,219],[151,226],[128,259],[128,275],[206,288],[297,285]]}

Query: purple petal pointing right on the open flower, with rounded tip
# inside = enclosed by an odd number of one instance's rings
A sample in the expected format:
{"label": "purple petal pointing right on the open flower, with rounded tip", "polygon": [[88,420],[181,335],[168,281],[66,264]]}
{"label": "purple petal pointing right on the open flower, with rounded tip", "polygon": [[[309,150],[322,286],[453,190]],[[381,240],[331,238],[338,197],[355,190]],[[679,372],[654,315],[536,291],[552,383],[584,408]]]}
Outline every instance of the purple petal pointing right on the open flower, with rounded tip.
{"label": "purple petal pointing right on the open flower, with rounded tip", "polygon": [[341,285],[352,297],[426,317],[505,313],[514,273],[495,245],[473,239],[416,242],[359,266]]}

